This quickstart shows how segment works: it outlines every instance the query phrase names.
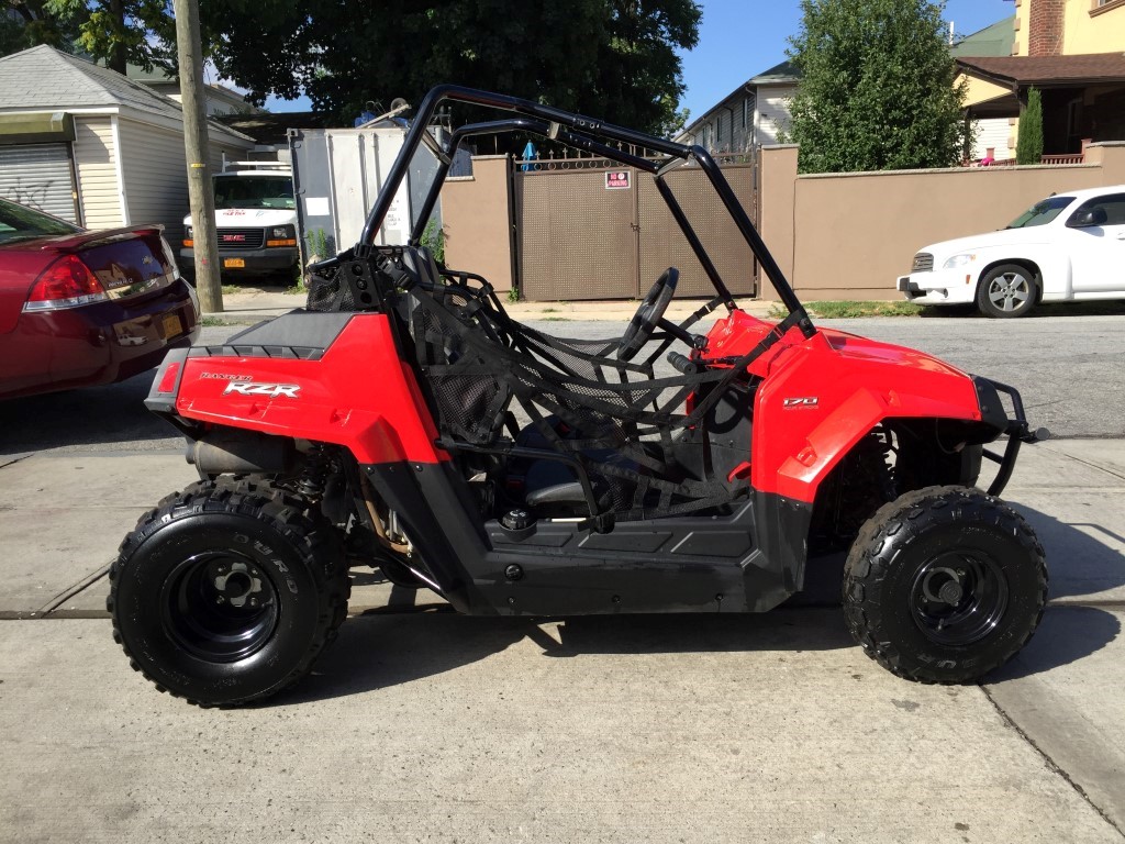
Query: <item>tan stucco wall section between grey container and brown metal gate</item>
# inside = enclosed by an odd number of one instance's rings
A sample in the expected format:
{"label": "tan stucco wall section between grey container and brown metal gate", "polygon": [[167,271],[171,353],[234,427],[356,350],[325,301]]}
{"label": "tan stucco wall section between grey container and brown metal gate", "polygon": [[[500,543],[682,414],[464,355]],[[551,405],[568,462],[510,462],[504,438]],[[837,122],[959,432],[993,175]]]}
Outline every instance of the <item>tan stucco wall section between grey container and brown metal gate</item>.
{"label": "tan stucco wall section between grey container and brown metal gate", "polygon": [[472,159],[472,176],[449,179],[441,190],[446,266],[476,272],[500,291],[512,289],[512,217],[506,155]]}

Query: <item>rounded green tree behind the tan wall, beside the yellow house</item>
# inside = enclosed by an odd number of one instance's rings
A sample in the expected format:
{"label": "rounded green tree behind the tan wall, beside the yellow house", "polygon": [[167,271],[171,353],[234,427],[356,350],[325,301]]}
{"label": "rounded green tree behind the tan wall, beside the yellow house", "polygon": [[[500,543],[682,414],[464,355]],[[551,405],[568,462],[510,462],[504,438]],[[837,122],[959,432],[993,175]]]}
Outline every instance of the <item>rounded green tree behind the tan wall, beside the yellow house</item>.
{"label": "rounded green tree behind the tan wall, beside the yellow house", "polygon": [[944,2],[801,0],[789,55],[802,79],[789,137],[802,172],[951,167],[966,140],[964,82]]}

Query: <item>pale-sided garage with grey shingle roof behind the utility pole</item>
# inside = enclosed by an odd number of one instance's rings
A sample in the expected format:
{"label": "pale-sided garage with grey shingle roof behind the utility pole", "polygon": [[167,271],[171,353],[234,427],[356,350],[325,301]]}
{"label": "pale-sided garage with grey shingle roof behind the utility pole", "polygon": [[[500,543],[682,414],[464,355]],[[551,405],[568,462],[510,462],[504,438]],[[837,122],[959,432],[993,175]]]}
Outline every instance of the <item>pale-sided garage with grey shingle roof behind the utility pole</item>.
{"label": "pale-sided garage with grey shingle roof behind the utility pole", "polygon": [[[212,122],[208,165],[254,142]],[[120,73],[40,45],[0,59],[0,197],[88,228],[162,223],[188,210],[183,111]]]}

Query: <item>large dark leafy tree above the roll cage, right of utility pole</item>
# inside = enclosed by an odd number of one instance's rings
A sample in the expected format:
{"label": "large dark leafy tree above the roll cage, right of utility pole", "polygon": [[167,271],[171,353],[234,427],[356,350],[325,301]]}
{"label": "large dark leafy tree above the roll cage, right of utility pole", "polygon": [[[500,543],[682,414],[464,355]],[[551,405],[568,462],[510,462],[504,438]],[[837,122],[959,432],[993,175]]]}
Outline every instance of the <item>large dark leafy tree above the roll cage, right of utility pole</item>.
{"label": "large dark leafy tree above the roll cage, right of utility pole", "polygon": [[[210,3],[215,5],[215,3]],[[217,32],[262,27],[271,50],[217,51],[224,75],[263,99],[302,90],[317,110],[351,118],[369,101],[417,105],[453,82],[662,131],[683,93],[676,50],[699,37],[694,0],[572,0],[528,14],[516,0],[295,0],[256,18],[209,10]],[[207,17],[205,15],[205,18]],[[235,36],[226,36],[234,43]]]}

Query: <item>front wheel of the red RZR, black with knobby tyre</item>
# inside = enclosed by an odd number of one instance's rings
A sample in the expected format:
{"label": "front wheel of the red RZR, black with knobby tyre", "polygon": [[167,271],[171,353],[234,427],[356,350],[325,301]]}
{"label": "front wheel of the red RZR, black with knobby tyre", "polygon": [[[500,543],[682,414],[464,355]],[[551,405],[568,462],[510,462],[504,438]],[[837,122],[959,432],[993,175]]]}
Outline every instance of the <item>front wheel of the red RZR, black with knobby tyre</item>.
{"label": "front wheel of the red RZR, black with knobby tyre", "polygon": [[1043,548],[1011,508],[963,486],[884,505],[844,568],[844,617],[867,656],[922,683],[966,683],[1030,639],[1046,603]]}

